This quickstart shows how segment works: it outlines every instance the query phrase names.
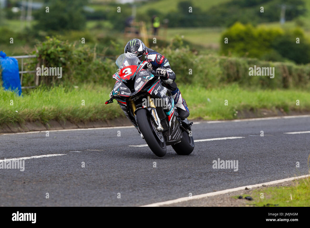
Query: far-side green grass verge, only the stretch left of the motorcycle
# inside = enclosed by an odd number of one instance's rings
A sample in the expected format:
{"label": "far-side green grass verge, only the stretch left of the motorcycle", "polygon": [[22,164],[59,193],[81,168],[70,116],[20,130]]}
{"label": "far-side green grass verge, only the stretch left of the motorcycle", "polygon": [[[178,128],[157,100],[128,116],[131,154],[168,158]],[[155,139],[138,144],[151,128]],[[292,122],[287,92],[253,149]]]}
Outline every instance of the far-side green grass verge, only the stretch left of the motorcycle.
{"label": "far-side green grass verge, only the stretch left of the motorcycle", "polygon": [[[93,89],[92,86],[79,88],[54,87],[50,90],[38,88],[23,97],[0,88],[0,124],[23,123],[39,120],[70,120],[73,122],[111,119],[118,117],[122,110],[117,105],[105,105],[111,89]],[[13,105],[10,105],[13,100]],[[85,105],[82,105],[82,100]],[[16,112],[17,111],[17,112]]]}

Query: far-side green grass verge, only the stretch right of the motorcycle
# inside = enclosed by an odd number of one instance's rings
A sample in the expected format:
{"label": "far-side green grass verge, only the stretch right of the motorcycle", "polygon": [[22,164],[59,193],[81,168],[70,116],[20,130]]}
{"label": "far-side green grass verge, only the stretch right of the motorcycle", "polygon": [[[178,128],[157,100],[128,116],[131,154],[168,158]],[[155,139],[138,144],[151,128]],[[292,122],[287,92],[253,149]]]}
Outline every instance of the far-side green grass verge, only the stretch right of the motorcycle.
{"label": "far-side green grass verge, only the stretch right of the motorcycle", "polygon": [[[191,118],[205,120],[234,119],[236,111],[276,108],[283,110],[310,110],[310,92],[290,90],[248,90],[237,85],[206,90],[202,87],[183,87],[180,91],[186,99]],[[210,102],[207,101],[210,99]],[[228,105],[224,101],[228,100]],[[302,101],[296,106],[296,100]]]}

